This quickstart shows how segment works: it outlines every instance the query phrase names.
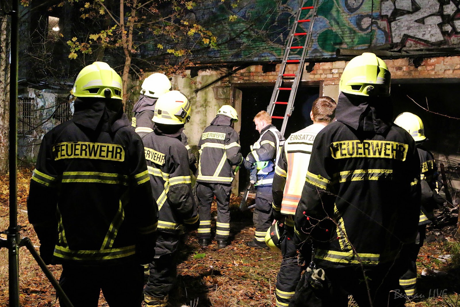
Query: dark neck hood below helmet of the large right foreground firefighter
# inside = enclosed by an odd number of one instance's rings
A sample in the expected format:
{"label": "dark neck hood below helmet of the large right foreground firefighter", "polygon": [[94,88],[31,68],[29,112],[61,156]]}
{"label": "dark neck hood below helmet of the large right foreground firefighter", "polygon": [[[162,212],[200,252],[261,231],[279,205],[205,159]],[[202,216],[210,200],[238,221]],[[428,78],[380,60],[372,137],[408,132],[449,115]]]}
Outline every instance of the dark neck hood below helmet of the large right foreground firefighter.
{"label": "dark neck hood below helmet of the large right foreground firefighter", "polygon": [[393,124],[389,97],[366,97],[340,93],[335,118],[354,130],[385,134]]}

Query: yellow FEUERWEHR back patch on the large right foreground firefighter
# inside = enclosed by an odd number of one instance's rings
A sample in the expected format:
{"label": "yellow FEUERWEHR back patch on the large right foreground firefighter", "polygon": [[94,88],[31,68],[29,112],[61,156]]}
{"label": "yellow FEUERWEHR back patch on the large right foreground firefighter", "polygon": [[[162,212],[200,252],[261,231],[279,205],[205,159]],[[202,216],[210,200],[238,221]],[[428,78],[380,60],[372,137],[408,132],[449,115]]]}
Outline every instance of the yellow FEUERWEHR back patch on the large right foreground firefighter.
{"label": "yellow FEUERWEHR back patch on the large right foreground firefighter", "polygon": [[377,140],[350,140],[333,142],[330,145],[334,159],[344,158],[384,158],[406,160],[409,145]]}

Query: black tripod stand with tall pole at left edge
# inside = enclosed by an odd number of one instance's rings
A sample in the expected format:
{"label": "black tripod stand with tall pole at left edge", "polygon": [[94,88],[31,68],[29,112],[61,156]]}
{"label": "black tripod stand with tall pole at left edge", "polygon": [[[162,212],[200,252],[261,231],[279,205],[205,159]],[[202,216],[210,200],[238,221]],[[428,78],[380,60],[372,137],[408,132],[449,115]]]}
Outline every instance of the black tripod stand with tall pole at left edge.
{"label": "black tripod stand with tall pole at left edge", "polygon": [[45,262],[34,248],[29,238],[19,239],[21,227],[17,224],[17,71],[19,52],[19,14],[18,0],[13,0],[11,10],[7,13],[11,17],[11,51],[10,51],[10,112],[9,112],[9,171],[10,171],[10,226],[6,233],[6,240],[0,240],[0,248],[8,248],[8,275],[10,307],[19,307],[19,248],[25,246],[34,256],[41,270],[50,280],[60,302],[66,307],[73,307],[69,298],[63,292]]}

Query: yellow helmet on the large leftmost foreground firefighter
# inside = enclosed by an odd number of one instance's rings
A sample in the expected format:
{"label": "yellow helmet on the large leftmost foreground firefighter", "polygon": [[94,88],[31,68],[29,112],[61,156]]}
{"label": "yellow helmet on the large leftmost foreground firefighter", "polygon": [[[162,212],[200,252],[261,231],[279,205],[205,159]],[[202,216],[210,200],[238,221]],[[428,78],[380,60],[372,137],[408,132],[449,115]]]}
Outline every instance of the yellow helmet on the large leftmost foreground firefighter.
{"label": "yellow helmet on the large leftmost foreground firefighter", "polygon": [[75,97],[122,99],[121,77],[105,62],[84,67],[75,79]]}

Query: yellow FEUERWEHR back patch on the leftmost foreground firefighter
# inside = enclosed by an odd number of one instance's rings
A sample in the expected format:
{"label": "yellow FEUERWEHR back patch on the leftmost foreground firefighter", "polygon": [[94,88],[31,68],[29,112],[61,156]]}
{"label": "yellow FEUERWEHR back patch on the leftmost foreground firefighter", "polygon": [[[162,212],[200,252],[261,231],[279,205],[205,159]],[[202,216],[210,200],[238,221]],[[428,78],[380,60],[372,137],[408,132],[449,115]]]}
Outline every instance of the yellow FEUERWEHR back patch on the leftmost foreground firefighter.
{"label": "yellow FEUERWEHR back patch on the leftmost foreground firefighter", "polygon": [[53,146],[55,160],[59,159],[100,159],[124,161],[125,150],[118,144],[92,142],[62,142]]}

